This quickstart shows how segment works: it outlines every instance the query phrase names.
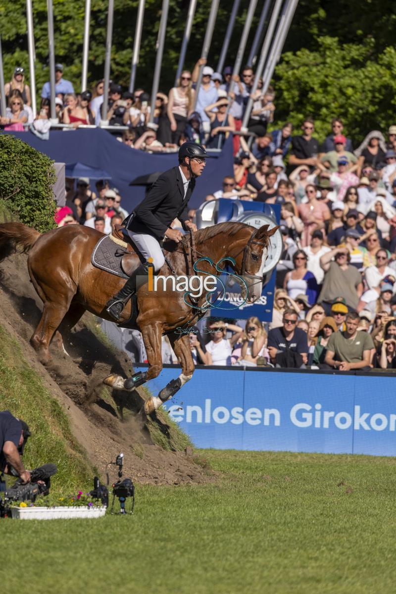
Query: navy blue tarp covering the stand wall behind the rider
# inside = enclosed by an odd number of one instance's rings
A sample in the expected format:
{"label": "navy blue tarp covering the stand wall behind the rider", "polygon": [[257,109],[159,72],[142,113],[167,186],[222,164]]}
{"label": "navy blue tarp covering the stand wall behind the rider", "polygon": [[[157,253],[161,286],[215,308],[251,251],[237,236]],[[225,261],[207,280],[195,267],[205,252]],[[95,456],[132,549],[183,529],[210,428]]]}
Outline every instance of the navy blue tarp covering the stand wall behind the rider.
{"label": "navy blue tarp covering the stand wall behind the rider", "polygon": [[[112,176],[110,184],[119,188],[123,198],[122,206],[128,211],[140,203],[145,192],[144,187],[129,186],[129,182],[145,173],[166,171],[178,165],[177,153],[143,153],[120,143],[109,132],[100,128],[51,131],[49,140],[40,140],[31,132],[12,134],[56,162],[80,161],[85,165],[106,170]],[[224,176],[233,175],[232,149],[232,138],[229,138],[223,151],[217,153],[218,157],[207,160],[205,171],[198,179],[189,202],[192,208],[202,204],[207,194],[221,189]]]}

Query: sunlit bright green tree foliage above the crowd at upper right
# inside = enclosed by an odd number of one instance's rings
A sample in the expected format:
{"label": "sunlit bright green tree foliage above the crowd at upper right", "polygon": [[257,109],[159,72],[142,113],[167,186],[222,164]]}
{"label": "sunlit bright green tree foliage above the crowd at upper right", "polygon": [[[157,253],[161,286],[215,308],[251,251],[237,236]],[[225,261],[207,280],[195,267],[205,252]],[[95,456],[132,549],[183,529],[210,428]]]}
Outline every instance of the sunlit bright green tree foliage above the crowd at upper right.
{"label": "sunlit bright green tree foliage above the crowd at upper right", "polygon": [[316,51],[284,53],[275,72],[278,124],[287,119],[299,128],[311,115],[321,140],[335,116],[355,140],[394,124],[396,51],[385,48],[373,59],[374,45],[372,38],[340,44],[337,37],[320,37]]}

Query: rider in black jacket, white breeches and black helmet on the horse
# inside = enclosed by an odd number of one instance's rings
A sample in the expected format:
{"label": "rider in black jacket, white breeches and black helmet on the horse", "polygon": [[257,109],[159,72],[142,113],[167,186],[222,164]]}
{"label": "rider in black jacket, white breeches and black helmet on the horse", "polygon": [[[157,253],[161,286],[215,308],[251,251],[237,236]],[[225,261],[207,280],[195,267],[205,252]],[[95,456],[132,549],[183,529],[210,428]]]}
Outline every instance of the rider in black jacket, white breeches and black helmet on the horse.
{"label": "rider in black jacket, white breeches and black helmet on the horse", "polygon": [[[128,235],[140,252],[142,263],[131,274],[122,289],[106,304],[106,311],[119,320],[126,302],[147,282],[148,270],[158,272],[165,259],[161,248],[164,237],[178,243],[182,232],[171,229],[177,217],[183,229],[196,231],[188,219],[188,201],[195,187],[195,178],[205,167],[207,153],[200,144],[187,142],[179,149],[179,166],[162,173],[147,196],[135,208],[126,225]],[[151,258],[151,262],[148,262]]]}

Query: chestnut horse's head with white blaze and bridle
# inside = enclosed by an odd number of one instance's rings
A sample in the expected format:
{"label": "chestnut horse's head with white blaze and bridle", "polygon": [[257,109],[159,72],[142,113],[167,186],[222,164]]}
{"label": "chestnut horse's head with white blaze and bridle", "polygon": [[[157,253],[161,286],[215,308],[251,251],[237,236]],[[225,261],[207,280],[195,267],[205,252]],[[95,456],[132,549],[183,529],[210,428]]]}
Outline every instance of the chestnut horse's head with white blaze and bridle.
{"label": "chestnut horse's head with white blaze and bridle", "polygon": [[246,289],[242,289],[242,297],[246,303],[254,303],[259,299],[262,293],[262,285],[264,283],[263,270],[264,264],[268,257],[268,248],[270,247],[270,238],[277,231],[278,227],[268,230],[269,225],[262,225],[259,229],[246,227],[249,232],[249,237],[246,241],[245,232],[245,247],[240,251],[236,257],[236,272],[243,277],[248,286],[248,295],[246,296]]}

